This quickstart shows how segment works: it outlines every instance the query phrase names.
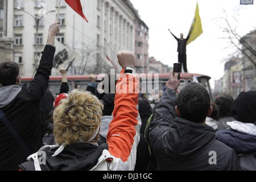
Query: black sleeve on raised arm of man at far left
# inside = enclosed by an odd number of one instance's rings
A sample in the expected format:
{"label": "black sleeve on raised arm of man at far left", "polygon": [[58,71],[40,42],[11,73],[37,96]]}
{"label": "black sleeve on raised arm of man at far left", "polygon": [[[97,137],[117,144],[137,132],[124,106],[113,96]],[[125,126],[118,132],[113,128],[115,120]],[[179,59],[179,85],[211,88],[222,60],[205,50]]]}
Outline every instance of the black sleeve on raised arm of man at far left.
{"label": "black sleeve on raised arm of man at far left", "polygon": [[33,100],[42,100],[44,93],[49,84],[49,76],[51,75],[55,47],[46,45],[40,60],[39,67],[36,71],[34,80],[28,85],[27,96]]}

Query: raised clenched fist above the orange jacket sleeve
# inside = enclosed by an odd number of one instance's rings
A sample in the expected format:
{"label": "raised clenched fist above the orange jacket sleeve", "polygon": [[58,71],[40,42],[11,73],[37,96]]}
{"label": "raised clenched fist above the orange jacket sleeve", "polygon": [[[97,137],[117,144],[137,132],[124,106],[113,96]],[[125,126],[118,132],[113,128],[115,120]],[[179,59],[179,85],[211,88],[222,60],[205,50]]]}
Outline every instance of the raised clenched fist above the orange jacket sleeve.
{"label": "raised clenched fist above the orange jacket sleeve", "polygon": [[130,51],[119,51],[118,52],[118,63],[122,68],[131,67],[135,68],[134,54]]}

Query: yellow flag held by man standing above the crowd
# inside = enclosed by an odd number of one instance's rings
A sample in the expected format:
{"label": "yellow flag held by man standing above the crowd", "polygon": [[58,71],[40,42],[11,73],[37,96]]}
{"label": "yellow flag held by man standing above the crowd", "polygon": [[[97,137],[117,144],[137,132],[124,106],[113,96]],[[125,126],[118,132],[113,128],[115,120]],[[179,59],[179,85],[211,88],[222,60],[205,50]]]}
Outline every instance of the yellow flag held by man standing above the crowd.
{"label": "yellow flag held by man standing above the crowd", "polygon": [[189,43],[193,42],[201,34],[203,34],[203,29],[202,29],[201,18],[199,15],[199,6],[198,6],[198,3],[196,3],[196,14],[195,14],[195,18],[193,19],[189,33],[188,33],[188,35],[190,35],[190,36],[187,41],[187,45]]}

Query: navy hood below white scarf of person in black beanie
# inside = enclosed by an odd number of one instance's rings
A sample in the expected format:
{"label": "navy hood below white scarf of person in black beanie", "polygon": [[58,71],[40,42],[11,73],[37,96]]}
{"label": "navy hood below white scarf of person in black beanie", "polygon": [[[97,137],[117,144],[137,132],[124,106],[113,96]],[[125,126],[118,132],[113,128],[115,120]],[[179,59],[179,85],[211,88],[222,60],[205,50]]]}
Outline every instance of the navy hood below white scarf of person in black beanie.
{"label": "navy hood below white scarf of person in black beanie", "polygon": [[219,130],[217,140],[233,148],[238,153],[256,152],[256,136],[240,133],[236,130]]}

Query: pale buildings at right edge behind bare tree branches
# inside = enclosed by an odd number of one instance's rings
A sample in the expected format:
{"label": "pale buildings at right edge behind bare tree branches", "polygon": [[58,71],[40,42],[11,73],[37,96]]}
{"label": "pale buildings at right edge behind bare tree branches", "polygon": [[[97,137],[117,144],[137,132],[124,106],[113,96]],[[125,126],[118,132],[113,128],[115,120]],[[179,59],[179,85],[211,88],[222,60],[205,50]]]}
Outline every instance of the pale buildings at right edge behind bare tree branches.
{"label": "pale buildings at right edge behind bare tree branches", "polygon": [[230,94],[236,98],[241,92],[256,90],[256,31],[251,31],[242,39],[241,42],[245,41],[251,51],[242,44],[241,49],[247,56],[243,53],[225,63],[224,76],[216,80],[216,94]]}

